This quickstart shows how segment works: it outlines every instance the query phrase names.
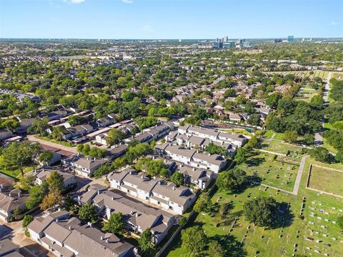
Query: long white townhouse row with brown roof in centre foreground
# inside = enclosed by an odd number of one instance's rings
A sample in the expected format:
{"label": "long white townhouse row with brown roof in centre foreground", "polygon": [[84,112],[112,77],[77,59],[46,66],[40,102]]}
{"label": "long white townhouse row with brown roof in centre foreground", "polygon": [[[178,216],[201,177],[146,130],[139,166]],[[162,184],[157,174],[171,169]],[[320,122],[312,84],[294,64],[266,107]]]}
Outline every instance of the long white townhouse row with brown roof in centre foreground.
{"label": "long white townhouse row with brown roof in centre foreground", "polygon": [[111,188],[166,211],[182,214],[194,203],[196,195],[186,186],[177,187],[161,178],[148,178],[131,168],[109,176]]}

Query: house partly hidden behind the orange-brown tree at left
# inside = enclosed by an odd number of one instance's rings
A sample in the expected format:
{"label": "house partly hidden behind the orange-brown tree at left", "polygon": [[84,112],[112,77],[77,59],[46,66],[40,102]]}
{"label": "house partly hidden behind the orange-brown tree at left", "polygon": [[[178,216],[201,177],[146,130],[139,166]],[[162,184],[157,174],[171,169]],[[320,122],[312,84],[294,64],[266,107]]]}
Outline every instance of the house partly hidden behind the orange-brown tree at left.
{"label": "house partly hidden behind the orange-brown tree at left", "polygon": [[51,173],[53,171],[56,171],[57,173],[59,173],[59,175],[63,176],[64,188],[69,188],[70,186],[74,186],[76,184],[75,175],[53,168],[41,168],[39,170],[34,170],[26,174],[28,174],[29,176],[34,176],[36,178],[36,183],[41,185],[44,181],[46,181],[46,178],[49,178],[49,176],[51,176]]}

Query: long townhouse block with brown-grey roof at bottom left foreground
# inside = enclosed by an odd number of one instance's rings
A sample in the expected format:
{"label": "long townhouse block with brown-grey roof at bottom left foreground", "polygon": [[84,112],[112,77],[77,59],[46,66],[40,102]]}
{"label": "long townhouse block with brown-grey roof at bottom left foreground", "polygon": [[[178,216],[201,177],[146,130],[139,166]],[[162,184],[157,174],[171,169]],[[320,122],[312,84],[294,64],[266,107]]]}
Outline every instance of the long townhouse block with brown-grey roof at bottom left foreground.
{"label": "long townhouse block with brown-grey roof at bottom left foreground", "polygon": [[56,256],[134,256],[134,246],[113,233],[104,233],[91,223],[82,225],[77,218],[60,211],[46,218],[34,218],[28,226],[31,238]]}

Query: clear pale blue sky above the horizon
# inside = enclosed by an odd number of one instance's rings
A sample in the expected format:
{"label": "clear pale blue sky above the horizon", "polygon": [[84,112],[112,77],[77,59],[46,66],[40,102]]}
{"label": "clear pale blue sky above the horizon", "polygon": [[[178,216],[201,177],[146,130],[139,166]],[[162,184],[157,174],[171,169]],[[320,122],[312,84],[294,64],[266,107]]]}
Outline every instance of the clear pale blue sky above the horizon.
{"label": "clear pale blue sky above the horizon", "polygon": [[343,37],[342,0],[0,0],[0,38]]}

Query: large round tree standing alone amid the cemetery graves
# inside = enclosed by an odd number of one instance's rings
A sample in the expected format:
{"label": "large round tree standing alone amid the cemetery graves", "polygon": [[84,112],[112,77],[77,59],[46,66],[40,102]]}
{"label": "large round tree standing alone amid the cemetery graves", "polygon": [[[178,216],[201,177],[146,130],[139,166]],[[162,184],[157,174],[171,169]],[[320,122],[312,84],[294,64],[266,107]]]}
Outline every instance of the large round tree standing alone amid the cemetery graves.
{"label": "large round tree standing alone amid the cemetery graves", "polygon": [[271,226],[276,211],[277,202],[272,197],[259,196],[243,205],[244,216],[257,226]]}

